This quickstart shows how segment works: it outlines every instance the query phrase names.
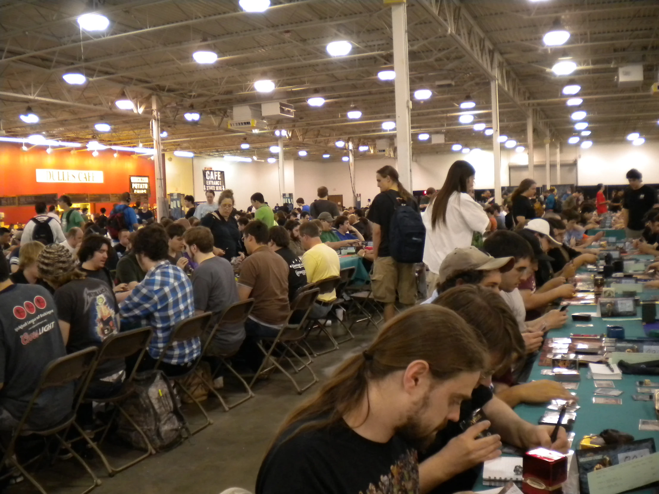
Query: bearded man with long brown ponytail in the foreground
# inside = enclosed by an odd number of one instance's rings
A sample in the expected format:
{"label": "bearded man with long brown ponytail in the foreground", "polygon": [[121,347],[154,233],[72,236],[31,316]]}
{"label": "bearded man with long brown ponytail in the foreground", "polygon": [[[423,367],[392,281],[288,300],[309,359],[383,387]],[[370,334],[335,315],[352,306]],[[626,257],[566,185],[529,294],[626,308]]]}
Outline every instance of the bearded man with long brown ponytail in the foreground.
{"label": "bearded man with long brown ponytail in the foreground", "polygon": [[416,449],[459,419],[489,368],[484,344],[455,312],[432,304],[403,312],[287,418],[256,494],[427,491]]}

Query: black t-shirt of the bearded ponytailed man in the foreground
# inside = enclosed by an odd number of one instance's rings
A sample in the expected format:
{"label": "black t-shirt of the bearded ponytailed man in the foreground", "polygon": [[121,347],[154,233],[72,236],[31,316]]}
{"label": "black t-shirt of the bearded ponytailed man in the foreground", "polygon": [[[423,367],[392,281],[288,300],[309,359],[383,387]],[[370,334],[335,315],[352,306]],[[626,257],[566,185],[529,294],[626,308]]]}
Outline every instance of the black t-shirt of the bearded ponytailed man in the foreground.
{"label": "black t-shirt of the bearded ponytailed man in the foreground", "polygon": [[295,430],[268,452],[256,494],[418,494],[416,451],[400,437],[374,443],[343,421],[292,435]]}

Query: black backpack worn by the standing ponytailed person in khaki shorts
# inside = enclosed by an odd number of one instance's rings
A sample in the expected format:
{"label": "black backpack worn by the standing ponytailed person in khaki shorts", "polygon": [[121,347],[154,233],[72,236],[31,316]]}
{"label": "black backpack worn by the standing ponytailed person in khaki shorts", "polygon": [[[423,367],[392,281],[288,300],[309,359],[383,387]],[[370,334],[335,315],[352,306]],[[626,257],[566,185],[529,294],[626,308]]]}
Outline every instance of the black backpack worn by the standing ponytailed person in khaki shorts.
{"label": "black backpack worn by the standing ponytailed person in khaki shorts", "polygon": [[[391,196],[389,196],[391,197]],[[389,224],[389,251],[396,262],[423,261],[426,227],[420,213],[407,203],[391,198],[396,204]]]}

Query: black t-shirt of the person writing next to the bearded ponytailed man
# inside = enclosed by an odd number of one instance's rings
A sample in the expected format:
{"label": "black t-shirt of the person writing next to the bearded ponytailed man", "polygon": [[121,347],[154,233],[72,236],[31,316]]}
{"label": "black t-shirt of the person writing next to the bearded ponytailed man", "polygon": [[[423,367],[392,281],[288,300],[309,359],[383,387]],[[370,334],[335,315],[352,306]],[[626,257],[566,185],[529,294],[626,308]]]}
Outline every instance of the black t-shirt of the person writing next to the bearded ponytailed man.
{"label": "black t-shirt of the person writing next to the bearded ponytailed man", "polygon": [[[474,391],[471,392],[471,400],[464,400],[460,405],[460,420],[470,418],[478,408],[482,408],[492,397],[494,395],[490,388],[483,385],[474,388]],[[426,451],[419,453],[419,462],[440,451],[453,437],[457,437],[463,432],[458,422],[449,420],[446,427],[437,433],[434,443]],[[482,464],[478,464],[469,470],[465,470],[465,472],[457,474],[455,477],[432,489],[430,494],[451,494],[459,491],[471,491],[480,475],[481,469]]]}

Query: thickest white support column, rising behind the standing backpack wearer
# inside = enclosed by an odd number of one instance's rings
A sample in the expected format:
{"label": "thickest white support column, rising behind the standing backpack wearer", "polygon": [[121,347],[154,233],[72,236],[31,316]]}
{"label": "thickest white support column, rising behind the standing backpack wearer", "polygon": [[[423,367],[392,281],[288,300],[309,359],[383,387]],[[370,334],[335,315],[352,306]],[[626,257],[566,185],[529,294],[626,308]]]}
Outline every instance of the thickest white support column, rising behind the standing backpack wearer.
{"label": "thickest white support column, rising behind the standing backpack wearer", "polygon": [[407,5],[391,5],[393,70],[396,99],[396,163],[401,183],[412,192],[412,126],[410,121],[410,82],[407,63]]}

